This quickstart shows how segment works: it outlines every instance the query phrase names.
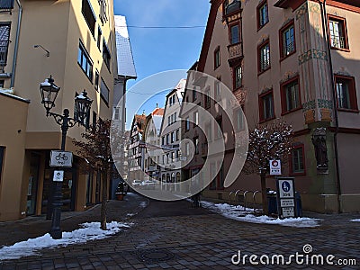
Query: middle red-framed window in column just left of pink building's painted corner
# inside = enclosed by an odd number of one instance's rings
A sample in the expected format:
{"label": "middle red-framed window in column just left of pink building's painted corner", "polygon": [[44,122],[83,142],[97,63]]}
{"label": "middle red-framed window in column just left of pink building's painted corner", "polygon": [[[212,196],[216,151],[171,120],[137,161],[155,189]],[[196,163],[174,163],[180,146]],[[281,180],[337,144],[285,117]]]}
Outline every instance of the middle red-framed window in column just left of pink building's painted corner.
{"label": "middle red-framed window in column just left of pink building's painted corner", "polygon": [[281,86],[281,91],[283,113],[292,112],[302,107],[298,77],[284,83]]}

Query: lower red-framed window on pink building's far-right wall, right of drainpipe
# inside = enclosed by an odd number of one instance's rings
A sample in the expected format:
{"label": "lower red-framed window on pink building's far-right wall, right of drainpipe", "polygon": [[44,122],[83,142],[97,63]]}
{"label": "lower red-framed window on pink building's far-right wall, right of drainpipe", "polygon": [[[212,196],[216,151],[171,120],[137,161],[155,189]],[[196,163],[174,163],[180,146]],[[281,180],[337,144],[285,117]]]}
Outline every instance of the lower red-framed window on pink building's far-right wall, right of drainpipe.
{"label": "lower red-framed window on pink building's far-right wall, right of drainpipe", "polygon": [[335,87],[338,97],[338,108],[357,111],[355,78],[352,76],[335,76]]}

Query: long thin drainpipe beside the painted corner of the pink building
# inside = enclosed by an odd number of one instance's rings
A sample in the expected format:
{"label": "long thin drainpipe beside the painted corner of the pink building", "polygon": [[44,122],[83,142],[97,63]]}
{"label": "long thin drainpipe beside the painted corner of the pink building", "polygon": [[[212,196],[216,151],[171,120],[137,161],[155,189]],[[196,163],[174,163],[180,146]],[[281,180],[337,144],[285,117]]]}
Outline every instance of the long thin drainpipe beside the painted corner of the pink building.
{"label": "long thin drainpipe beside the painted corner of the pink building", "polygon": [[338,212],[341,212],[341,184],[340,184],[340,172],[338,166],[338,103],[337,103],[337,94],[335,92],[335,78],[334,78],[334,69],[332,66],[332,58],[331,58],[331,48],[330,48],[330,37],[329,37],[329,29],[328,29],[328,15],[326,11],[326,0],[323,0],[323,5],[320,2],[321,16],[322,16],[322,29],[324,31],[324,37],[326,37],[326,43],[328,47],[328,55],[329,55],[329,71],[331,76],[331,87],[332,87],[332,99],[333,99],[333,109],[334,109],[334,118],[335,118],[335,132],[334,132],[334,152],[335,152],[335,169],[337,171],[337,185],[338,185]]}

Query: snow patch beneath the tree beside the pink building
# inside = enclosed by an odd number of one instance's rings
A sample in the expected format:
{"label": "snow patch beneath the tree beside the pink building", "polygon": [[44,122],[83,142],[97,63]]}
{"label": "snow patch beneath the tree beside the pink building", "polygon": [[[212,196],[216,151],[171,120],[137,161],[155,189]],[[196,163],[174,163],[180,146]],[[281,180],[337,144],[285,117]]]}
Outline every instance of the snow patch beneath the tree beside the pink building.
{"label": "snow patch beneath the tree beside the pink building", "polygon": [[276,219],[268,216],[256,216],[254,215],[254,210],[247,208],[244,210],[244,207],[229,205],[228,203],[213,203],[213,202],[204,202],[202,201],[202,206],[211,210],[220,213],[226,218],[232,220],[239,220],[252,223],[265,223],[265,224],[277,224],[288,227],[297,227],[297,228],[312,228],[318,227],[319,219],[311,218],[288,218],[288,219]]}

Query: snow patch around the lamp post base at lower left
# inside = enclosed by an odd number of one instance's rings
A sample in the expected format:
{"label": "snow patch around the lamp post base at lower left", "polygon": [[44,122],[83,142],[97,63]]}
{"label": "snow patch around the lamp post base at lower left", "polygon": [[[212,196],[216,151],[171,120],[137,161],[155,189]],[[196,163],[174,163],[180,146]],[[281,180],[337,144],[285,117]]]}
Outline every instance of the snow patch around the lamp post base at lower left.
{"label": "snow patch around the lamp post base at lower left", "polygon": [[108,238],[119,232],[121,228],[129,228],[131,224],[112,221],[107,223],[107,230],[100,229],[100,222],[83,223],[83,228],[74,231],[64,231],[61,239],[53,239],[49,233],[39,237],[31,238],[23,242],[15,243],[13,246],[0,248],[0,261],[18,259],[21,257],[40,256],[40,249],[67,247],[68,245],[85,243],[91,240]]}

